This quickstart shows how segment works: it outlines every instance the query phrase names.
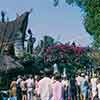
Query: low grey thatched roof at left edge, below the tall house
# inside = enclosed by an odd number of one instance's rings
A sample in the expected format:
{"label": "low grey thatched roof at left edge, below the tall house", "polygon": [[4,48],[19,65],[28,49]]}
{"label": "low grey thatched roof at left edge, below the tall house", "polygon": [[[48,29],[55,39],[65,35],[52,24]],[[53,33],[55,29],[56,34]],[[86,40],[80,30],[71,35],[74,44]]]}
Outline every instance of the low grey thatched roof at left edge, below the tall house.
{"label": "low grey thatched roof at left edge, below the tall house", "polygon": [[15,61],[10,56],[2,56],[0,55],[0,74],[1,73],[9,73],[10,71],[16,72],[17,70],[23,70],[24,67]]}

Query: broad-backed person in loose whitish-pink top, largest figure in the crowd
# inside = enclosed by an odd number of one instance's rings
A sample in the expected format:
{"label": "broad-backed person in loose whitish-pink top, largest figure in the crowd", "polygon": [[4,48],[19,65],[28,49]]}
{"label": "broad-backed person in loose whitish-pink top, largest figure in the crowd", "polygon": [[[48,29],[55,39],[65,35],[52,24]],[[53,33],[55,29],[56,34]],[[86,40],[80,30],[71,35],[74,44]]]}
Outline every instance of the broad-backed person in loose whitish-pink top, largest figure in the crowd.
{"label": "broad-backed person in loose whitish-pink top, largest figure in the crowd", "polygon": [[52,82],[48,75],[50,75],[49,72],[46,72],[44,77],[39,81],[38,93],[41,100],[51,100]]}

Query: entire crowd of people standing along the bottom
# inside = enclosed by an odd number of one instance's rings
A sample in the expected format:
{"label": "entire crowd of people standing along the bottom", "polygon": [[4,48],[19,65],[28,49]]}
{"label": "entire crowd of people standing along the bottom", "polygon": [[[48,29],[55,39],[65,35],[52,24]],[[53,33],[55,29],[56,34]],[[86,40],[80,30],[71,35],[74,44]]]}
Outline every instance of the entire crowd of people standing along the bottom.
{"label": "entire crowd of people standing along the bottom", "polygon": [[18,76],[10,85],[12,100],[100,100],[100,78],[85,73]]}

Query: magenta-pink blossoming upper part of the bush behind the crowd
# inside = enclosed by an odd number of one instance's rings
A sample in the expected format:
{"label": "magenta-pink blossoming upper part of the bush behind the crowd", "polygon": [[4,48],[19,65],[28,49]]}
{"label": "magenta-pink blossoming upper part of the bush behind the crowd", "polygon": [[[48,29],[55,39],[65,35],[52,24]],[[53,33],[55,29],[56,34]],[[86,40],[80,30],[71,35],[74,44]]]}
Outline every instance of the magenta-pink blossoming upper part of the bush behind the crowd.
{"label": "magenta-pink blossoming upper part of the bush behind the crowd", "polygon": [[44,59],[45,61],[56,61],[56,60],[69,60],[70,57],[80,57],[86,51],[83,47],[59,44],[53,45],[44,49]]}

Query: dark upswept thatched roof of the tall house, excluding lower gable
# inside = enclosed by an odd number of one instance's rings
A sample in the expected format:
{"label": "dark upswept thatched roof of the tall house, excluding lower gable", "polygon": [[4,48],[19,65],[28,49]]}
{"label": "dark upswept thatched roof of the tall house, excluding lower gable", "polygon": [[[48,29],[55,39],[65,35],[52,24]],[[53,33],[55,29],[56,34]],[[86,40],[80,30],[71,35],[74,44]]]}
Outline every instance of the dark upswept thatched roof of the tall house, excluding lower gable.
{"label": "dark upswept thatched roof of the tall house, excluding lower gable", "polygon": [[30,12],[24,12],[13,21],[0,22],[0,43],[14,42],[16,40],[16,32],[20,31],[24,36],[28,25],[28,16]]}

